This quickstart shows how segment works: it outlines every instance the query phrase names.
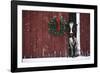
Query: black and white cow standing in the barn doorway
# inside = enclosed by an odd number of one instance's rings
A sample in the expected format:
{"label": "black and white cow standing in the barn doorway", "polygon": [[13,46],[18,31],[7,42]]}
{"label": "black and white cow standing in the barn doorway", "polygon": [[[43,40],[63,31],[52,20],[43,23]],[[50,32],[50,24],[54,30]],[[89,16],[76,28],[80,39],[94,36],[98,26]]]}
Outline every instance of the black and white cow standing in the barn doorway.
{"label": "black and white cow standing in the barn doorway", "polygon": [[76,57],[78,56],[78,49],[77,49],[77,24],[73,21],[69,21],[66,25],[66,30],[68,34],[68,56],[69,57]]}

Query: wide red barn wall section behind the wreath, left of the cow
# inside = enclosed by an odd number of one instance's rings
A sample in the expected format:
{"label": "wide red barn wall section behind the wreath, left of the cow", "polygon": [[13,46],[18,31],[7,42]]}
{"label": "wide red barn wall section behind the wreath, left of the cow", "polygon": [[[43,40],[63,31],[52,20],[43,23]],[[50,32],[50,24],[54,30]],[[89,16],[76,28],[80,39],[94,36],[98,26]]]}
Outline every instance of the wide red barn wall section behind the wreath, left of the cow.
{"label": "wide red barn wall section behind the wreath, left of the cow", "polygon": [[62,15],[68,21],[68,13],[23,11],[23,58],[65,57],[68,37],[48,33],[48,22],[53,16]]}

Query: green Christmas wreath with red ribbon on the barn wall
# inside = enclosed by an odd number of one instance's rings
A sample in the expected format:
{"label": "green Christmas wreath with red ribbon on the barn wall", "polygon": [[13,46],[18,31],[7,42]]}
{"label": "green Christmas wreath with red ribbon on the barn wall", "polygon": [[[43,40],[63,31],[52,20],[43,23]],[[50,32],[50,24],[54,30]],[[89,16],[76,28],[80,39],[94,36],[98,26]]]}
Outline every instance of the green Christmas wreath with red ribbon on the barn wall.
{"label": "green Christmas wreath with red ribbon on the barn wall", "polygon": [[54,16],[48,23],[48,31],[54,35],[63,35],[66,21],[64,20],[63,16],[56,17]]}

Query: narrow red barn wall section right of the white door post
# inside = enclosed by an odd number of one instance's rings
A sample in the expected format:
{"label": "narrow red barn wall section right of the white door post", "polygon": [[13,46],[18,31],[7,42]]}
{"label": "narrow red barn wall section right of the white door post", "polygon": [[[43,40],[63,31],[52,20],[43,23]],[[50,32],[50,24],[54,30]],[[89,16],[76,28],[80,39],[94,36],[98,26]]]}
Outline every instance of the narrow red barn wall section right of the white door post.
{"label": "narrow red barn wall section right of the white door post", "polygon": [[80,14],[80,45],[81,55],[90,55],[90,14]]}

